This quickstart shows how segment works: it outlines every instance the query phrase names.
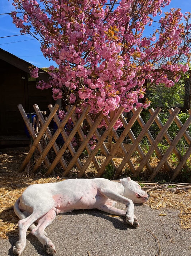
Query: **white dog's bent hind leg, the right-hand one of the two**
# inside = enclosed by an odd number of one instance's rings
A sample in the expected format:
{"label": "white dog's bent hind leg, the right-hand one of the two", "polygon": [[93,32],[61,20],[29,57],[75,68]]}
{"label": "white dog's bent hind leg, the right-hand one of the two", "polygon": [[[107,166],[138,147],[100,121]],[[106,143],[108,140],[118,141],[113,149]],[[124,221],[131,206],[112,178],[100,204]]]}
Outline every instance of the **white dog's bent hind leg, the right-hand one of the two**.
{"label": "white dog's bent hind leg, the right-hand one of the two", "polygon": [[51,209],[49,212],[47,212],[47,214],[45,214],[38,220],[38,225],[31,232],[33,235],[35,235],[35,237],[38,238],[40,243],[43,244],[44,250],[49,255],[53,255],[56,252],[56,250],[52,241],[46,235],[44,235],[44,229],[52,223],[55,217],[56,212],[53,209]]}

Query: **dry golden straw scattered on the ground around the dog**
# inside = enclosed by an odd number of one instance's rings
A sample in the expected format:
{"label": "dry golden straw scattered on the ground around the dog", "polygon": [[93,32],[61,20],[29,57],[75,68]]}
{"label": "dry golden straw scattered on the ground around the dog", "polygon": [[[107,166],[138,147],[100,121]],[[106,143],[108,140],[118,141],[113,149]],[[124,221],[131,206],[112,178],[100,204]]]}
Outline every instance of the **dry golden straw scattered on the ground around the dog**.
{"label": "dry golden straw scattered on the ground around the dog", "polygon": [[[41,174],[28,175],[26,172],[18,173],[26,153],[11,152],[0,155],[0,237],[8,238],[9,235],[18,235],[18,217],[15,215],[13,206],[16,199],[31,184],[49,183],[61,181],[57,175],[52,178],[44,178]],[[101,161],[101,159],[100,159]],[[118,158],[115,162],[121,161]],[[92,169],[89,170],[92,172]],[[160,209],[165,215],[164,207],[178,210],[180,225],[182,228],[191,229],[191,189],[167,188],[166,185],[147,185],[144,190],[150,190],[148,204],[153,209]]]}

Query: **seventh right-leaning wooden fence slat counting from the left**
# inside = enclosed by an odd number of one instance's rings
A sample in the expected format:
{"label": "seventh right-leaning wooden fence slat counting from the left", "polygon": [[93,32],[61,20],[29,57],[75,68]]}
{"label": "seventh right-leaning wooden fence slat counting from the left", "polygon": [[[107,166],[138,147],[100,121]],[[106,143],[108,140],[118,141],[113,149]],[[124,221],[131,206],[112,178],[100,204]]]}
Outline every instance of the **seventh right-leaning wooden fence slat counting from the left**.
{"label": "seventh right-leaning wooden fence slat counting from the left", "polygon": [[[118,177],[118,175],[120,174],[120,172],[123,170],[123,167],[126,165],[127,160],[132,156],[133,152],[138,147],[138,144],[141,142],[145,133],[148,131],[149,127],[152,125],[152,123],[154,122],[154,119],[156,118],[156,116],[159,114],[160,111],[161,111],[161,109],[157,107],[157,109],[155,111],[155,114],[149,118],[147,124],[143,127],[143,130],[138,135],[136,143],[133,144],[133,146],[129,150],[128,154],[124,157],[123,161],[120,163],[120,165],[116,169],[114,179],[116,179]],[[146,164],[147,161],[148,161],[148,159],[145,161],[145,164]],[[137,171],[135,172],[135,174],[136,173],[137,173]]]}

